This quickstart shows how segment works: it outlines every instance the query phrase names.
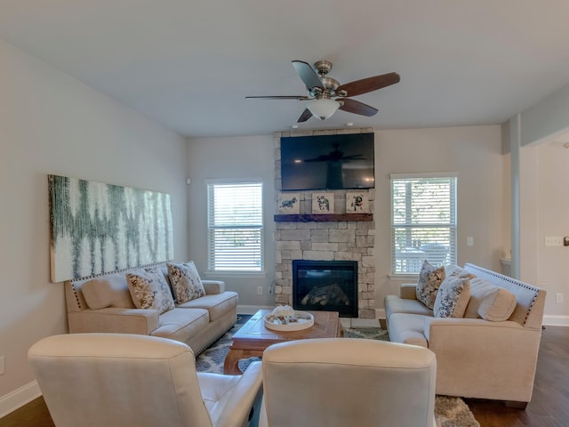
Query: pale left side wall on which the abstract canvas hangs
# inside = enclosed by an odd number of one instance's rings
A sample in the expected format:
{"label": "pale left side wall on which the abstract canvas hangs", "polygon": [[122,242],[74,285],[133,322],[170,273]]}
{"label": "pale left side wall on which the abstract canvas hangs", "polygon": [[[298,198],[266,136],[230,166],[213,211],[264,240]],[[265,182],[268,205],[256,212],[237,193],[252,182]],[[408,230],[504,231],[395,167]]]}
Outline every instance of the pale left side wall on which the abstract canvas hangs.
{"label": "pale left side wall on which the abstract canvas hangs", "polygon": [[0,416],[33,383],[29,346],[67,332],[50,283],[48,173],[172,196],[174,254],[188,254],[187,141],[0,41]]}

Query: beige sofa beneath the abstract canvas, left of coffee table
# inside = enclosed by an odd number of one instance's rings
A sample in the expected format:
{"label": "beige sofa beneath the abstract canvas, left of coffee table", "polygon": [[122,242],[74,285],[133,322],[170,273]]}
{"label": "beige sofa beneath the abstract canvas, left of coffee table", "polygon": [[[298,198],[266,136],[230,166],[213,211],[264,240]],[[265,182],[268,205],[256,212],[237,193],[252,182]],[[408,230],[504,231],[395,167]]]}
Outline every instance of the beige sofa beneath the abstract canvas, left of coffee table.
{"label": "beige sofa beneath the abstract canvas, left of coffee table", "polygon": [[[170,284],[166,265],[156,268]],[[238,296],[226,291],[224,282],[202,280],[205,296],[158,314],[135,307],[125,276],[128,271],[65,282],[70,333],[160,336],[185,342],[198,354],[236,323]]]}

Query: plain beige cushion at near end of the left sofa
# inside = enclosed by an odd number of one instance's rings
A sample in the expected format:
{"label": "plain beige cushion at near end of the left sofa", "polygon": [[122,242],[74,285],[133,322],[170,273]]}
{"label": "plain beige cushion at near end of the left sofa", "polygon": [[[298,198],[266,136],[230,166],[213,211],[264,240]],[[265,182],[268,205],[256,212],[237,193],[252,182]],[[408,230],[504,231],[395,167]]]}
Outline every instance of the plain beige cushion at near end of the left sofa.
{"label": "plain beige cushion at near end of the left sofa", "polygon": [[85,302],[92,310],[120,307],[133,309],[131,293],[124,274],[111,274],[92,278],[81,286]]}

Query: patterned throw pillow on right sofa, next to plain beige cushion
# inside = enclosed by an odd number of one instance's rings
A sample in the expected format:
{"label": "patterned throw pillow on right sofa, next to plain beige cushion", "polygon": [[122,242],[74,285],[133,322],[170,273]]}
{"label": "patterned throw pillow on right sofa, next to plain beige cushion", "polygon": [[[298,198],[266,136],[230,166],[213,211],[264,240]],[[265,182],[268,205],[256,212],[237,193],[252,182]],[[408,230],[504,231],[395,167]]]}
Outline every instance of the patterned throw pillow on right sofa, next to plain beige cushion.
{"label": "patterned throw pillow on right sofa, next to plain beige cushion", "polygon": [[469,278],[445,278],[438,288],[433,315],[436,318],[461,318],[464,316],[469,299]]}

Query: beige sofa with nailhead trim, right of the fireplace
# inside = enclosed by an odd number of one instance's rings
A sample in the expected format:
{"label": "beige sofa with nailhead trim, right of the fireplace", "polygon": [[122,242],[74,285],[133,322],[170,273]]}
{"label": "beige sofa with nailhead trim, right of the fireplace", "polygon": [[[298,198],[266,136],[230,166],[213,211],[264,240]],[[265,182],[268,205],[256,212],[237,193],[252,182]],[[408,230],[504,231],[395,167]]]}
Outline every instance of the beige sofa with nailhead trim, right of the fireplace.
{"label": "beige sofa with nailhead trim, right of the fireplace", "polygon": [[[532,399],[546,292],[473,264],[464,270],[472,283],[466,317],[434,317],[433,310],[418,301],[416,284],[402,285],[400,295],[385,298],[389,338],[435,352],[437,394],[505,400],[525,407]],[[479,294],[474,297],[478,285],[498,289],[481,301]],[[484,306],[484,314],[491,313],[499,294],[515,295],[509,318],[480,318],[477,312]]]}

